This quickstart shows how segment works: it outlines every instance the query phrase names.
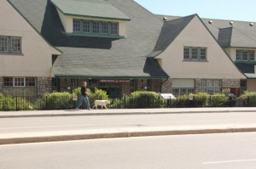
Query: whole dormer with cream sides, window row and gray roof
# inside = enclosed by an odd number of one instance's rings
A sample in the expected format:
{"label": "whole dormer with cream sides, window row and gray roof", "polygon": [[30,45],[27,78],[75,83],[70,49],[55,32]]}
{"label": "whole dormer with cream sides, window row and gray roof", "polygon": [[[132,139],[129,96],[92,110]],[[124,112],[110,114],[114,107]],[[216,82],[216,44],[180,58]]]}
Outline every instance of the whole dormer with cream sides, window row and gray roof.
{"label": "whole dormer with cream sides, window row and gray roof", "polygon": [[120,39],[131,19],[106,0],[50,0],[68,35]]}

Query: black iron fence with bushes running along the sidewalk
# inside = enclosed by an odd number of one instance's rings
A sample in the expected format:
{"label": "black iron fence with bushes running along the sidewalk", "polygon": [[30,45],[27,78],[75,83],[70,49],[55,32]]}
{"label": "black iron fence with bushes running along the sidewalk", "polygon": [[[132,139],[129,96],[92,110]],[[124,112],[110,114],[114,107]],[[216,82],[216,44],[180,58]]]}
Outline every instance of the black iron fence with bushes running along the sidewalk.
{"label": "black iron fence with bushes running along the sidewalk", "polygon": [[[173,100],[162,99],[160,96],[155,98],[136,99],[132,97],[123,97],[121,99],[109,99],[109,109],[142,109],[142,108],[171,108],[171,107],[241,107],[241,106],[256,106],[255,101],[242,100],[235,98],[226,100],[225,104],[214,104],[212,100],[207,104],[199,104],[198,100]],[[94,100],[90,99],[91,107],[94,105]],[[246,103],[246,104],[245,104]],[[44,96],[43,98],[35,97],[0,97],[0,111],[10,110],[73,110],[78,104],[78,100],[74,101],[73,96]],[[82,104],[80,109],[86,109],[86,105]]]}

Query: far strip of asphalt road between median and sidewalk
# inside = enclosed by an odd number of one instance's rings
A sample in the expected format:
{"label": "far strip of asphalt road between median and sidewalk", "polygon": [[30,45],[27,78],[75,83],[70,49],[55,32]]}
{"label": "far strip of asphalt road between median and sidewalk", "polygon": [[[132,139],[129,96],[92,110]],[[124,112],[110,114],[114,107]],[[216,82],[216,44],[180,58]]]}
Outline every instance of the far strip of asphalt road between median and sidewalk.
{"label": "far strip of asphalt road between median and sidewalk", "polygon": [[79,115],[0,119],[1,133],[67,130],[255,124],[256,113],[195,113],[159,115]]}

